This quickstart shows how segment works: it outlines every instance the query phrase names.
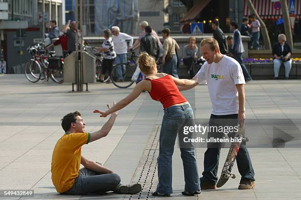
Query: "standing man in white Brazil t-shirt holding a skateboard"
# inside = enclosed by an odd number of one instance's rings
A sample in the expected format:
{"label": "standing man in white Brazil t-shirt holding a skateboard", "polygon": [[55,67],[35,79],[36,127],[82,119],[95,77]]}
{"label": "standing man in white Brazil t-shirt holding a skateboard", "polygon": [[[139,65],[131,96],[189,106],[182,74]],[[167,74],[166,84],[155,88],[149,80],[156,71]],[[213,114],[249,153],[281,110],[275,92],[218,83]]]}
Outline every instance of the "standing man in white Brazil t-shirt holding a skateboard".
{"label": "standing man in white Brazil t-shirt holding a skateboard", "polygon": [[[213,38],[207,38],[201,42],[201,51],[207,62],[193,79],[199,83],[207,83],[212,103],[209,126],[236,126],[244,125],[244,77],[240,64],[233,58],[223,55],[219,51],[218,43]],[[179,87],[187,90],[192,87]],[[216,135],[217,134],[217,135]],[[220,136],[220,133],[208,132],[208,138]],[[222,133],[222,135],[224,135]],[[210,146],[215,145],[215,146]],[[221,144],[219,144],[221,145]],[[208,144],[204,155],[204,172],[201,180],[201,189],[215,189],[217,182],[217,170],[220,155],[220,146]],[[245,143],[237,155],[237,165],[241,174],[239,189],[251,189],[254,187],[254,170]]]}

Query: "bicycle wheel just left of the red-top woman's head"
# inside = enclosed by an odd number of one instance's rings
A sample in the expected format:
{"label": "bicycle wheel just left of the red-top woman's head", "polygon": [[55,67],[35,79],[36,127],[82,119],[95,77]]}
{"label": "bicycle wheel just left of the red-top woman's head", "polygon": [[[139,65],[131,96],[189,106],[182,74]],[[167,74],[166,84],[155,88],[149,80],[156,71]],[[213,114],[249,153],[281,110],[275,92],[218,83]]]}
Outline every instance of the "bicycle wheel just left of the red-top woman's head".
{"label": "bicycle wheel just left of the red-top woman's head", "polygon": [[132,76],[135,72],[134,67],[128,63],[119,63],[115,65],[112,69],[111,80],[113,84],[119,88],[127,88],[131,86],[134,81],[132,81]]}

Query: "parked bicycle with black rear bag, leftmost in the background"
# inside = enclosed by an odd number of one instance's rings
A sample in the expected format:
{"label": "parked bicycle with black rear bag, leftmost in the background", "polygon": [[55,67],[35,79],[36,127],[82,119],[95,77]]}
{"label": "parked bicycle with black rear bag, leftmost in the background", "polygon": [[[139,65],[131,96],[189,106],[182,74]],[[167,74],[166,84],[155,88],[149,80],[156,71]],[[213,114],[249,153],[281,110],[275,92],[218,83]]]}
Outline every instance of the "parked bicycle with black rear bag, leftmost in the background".
{"label": "parked bicycle with black rear bag, leftmost in the background", "polygon": [[55,51],[46,51],[41,44],[28,49],[32,58],[24,65],[24,74],[30,82],[48,81],[49,77],[57,82],[63,82],[63,59],[56,57]]}

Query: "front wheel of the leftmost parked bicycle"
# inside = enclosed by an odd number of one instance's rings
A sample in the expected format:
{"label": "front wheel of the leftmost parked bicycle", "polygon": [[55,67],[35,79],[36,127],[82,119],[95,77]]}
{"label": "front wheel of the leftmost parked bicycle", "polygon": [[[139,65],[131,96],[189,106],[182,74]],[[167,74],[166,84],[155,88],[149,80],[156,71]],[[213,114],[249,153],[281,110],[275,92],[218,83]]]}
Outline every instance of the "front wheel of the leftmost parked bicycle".
{"label": "front wheel of the leftmost parked bicycle", "polygon": [[41,66],[37,61],[30,59],[24,65],[24,74],[30,82],[35,83],[39,81],[41,77],[42,74]]}

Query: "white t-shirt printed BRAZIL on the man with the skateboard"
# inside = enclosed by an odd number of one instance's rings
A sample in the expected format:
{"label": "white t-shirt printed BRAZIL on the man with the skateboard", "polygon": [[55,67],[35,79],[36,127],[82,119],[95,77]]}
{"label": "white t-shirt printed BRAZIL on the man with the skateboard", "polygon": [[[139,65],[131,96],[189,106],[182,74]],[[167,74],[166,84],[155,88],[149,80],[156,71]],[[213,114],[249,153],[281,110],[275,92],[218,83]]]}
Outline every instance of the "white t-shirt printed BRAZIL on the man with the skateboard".
{"label": "white t-shirt printed BRAZIL on the man with the skateboard", "polygon": [[218,62],[204,63],[197,75],[200,83],[207,83],[213,115],[238,114],[239,98],[236,84],[245,84],[241,65],[224,55]]}

